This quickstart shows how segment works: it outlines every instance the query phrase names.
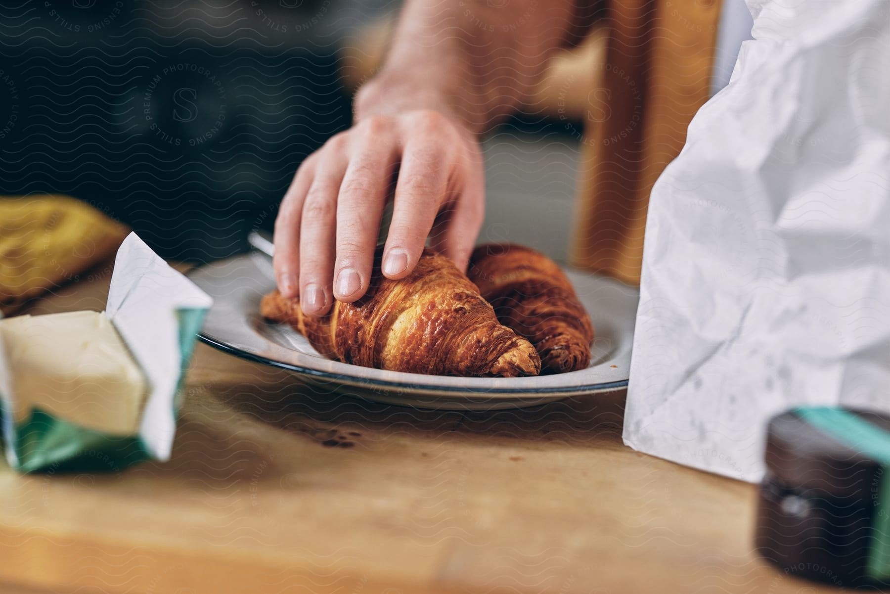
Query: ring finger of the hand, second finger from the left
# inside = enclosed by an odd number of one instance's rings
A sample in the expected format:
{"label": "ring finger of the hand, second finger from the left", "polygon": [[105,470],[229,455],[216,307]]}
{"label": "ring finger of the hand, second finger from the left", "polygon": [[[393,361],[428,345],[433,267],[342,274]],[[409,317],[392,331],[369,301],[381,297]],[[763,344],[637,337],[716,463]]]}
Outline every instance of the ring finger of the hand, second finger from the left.
{"label": "ring finger of the hand, second finger from the left", "polygon": [[328,313],[333,303],[337,193],[346,171],[346,155],[332,149],[320,155],[312,185],[303,201],[300,222],[300,306],[306,315]]}

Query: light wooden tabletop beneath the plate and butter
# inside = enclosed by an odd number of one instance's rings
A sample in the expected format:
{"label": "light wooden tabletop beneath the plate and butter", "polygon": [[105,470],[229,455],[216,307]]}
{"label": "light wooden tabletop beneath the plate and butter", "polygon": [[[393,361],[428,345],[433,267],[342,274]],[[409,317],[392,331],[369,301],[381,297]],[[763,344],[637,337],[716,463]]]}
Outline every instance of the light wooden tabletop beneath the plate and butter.
{"label": "light wooden tabletop beneath the plate and butter", "polygon": [[[31,311],[102,309],[107,287]],[[754,485],[622,445],[623,405],[411,410],[201,345],[170,461],[0,468],[0,590],[837,591],[753,554]]]}

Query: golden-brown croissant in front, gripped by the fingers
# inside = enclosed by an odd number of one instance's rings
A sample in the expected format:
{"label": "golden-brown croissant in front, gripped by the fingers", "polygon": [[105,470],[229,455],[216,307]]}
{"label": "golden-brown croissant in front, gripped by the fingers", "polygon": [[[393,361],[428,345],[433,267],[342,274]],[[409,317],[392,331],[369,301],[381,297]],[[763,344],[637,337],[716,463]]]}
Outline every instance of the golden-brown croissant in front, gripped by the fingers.
{"label": "golden-brown croissant in front, gripped by the fingers", "polygon": [[[379,270],[381,249],[376,253]],[[337,361],[433,375],[538,375],[535,348],[502,326],[494,310],[448,258],[426,248],[408,277],[374,275],[358,301],[304,316],[298,297],[263,297],[267,320],[285,322]]]}

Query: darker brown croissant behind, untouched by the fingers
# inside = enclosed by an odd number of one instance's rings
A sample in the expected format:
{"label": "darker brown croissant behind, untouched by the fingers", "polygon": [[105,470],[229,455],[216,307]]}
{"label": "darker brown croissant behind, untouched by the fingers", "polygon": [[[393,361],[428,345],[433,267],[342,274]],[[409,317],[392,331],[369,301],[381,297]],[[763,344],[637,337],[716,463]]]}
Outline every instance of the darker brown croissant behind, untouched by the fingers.
{"label": "darker brown croissant behind, untouched by the fingers", "polygon": [[468,275],[498,320],[535,346],[542,373],[590,363],[594,326],[553,260],[514,244],[488,244],[473,250]]}

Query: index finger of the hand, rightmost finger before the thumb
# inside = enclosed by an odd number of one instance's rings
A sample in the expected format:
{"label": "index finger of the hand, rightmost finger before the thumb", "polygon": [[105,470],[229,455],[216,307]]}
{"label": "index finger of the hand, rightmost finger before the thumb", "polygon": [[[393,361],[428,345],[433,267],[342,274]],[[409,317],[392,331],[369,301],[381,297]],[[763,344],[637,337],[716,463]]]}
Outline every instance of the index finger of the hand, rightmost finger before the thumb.
{"label": "index finger of the hand, rightmost finger before the thumb", "polygon": [[405,146],[395,188],[392,223],[386,237],[384,276],[407,276],[424,250],[448,184],[448,151],[418,134]]}

